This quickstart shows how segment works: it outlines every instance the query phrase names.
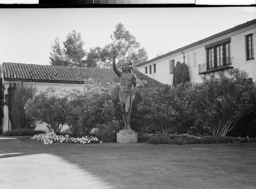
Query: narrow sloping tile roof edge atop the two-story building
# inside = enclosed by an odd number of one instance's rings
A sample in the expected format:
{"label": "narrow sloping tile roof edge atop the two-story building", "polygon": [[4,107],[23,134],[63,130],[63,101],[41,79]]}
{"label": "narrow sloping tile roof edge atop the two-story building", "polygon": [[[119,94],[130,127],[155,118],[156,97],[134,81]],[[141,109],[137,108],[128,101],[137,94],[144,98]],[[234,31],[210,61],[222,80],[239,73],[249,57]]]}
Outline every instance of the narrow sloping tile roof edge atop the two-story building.
{"label": "narrow sloping tile roof edge atop the two-story building", "polygon": [[187,49],[187,48],[190,48],[190,47],[196,46],[196,45],[198,45],[198,44],[204,43],[204,42],[206,42],[206,41],[209,41],[209,40],[211,40],[211,39],[215,39],[215,38],[221,37],[221,36],[223,36],[223,35],[232,33],[232,32],[234,32],[234,31],[241,30],[241,29],[246,28],[246,27],[248,27],[248,26],[250,26],[250,25],[253,25],[253,24],[256,24],[256,19],[247,21],[247,22],[245,22],[245,23],[242,23],[242,24],[239,24],[239,25],[237,25],[237,26],[234,26],[233,28],[230,28],[230,29],[228,29],[228,30],[222,31],[222,32],[220,32],[220,33],[218,33],[218,34],[215,34],[215,35],[212,35],[212,36],[207,37],[207,38],[205,38],[205,39],[196,41],[196,42],[194,42],[194,43],[191,43],[191,44],[189,44],[189,45],[183,46],[183,47],[178,48],[178,49],[176,49],[176,50],[167,52],[167,53],[165,53],[164,55],[161,55],[161,56],[156,57],[156,58],[154,58],[154,59],[151,59],[151,60],[148,60],[148,61],[146,61],[146,62],[143,62],[143,63],[141,63],[141,64],[139,64],[139,65],[137,65],[137,66],[142,66],[142,65],[145,65],[145,64],[147,64],[147,63],[151,63],[151,62],[153,62],[153,61],[156,61],[156,60],[159,60],[159,59],[161,59],[161,58],[167,57],[167,56],[172,55],[172,54],[174,54],[174,53],[176,53],[176,52],[179,52],[179,51],[181,51],[181,50],[185,50],[185,49]]}

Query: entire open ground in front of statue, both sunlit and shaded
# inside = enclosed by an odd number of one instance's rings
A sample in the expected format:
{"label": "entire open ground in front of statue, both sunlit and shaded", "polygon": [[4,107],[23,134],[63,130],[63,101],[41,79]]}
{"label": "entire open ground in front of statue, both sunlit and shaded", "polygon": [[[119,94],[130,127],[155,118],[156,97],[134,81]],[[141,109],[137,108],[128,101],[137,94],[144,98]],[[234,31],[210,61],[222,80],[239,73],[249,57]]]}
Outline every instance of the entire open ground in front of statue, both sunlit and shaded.
{"label": "entire open ground in front of statue, both sunlit and shaded", "polygon": [[256,143],[45,145],[0,137],[0,188],[255,188]]}

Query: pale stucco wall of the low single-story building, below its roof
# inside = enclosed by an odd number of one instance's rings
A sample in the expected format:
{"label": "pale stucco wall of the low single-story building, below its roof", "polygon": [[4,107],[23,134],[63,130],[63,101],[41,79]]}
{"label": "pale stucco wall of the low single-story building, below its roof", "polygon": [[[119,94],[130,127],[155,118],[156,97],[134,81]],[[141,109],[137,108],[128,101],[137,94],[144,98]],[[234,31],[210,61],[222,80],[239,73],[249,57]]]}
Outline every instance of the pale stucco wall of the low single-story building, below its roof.
{"label": "pale stucco wall of the low single-story building, below its roof", "polygon": [[[13,82],[11,82],[13,83]],[[7,89],[9,88],[9,84],[10,82],[4,82],[5,84],[5,91],[4,94],[6,95]],[[31,84],[30,82],[23,82],[24,85],[26,84]],[[73,89],[74,87],[83,87],[83,84],[57,84],[57,83],[40,83],[40,82],[32,82],[33,86],[35,86],[39,91],[42,90],[46,90],[47,87],[50,86],[56,86],[56,87],[62,87],[63,89],[69,90],[69,89]],[[64,125],[61,131],[65,131],[66,129],[68,129],[68,125]],[[4,121],[3,121],[3,132],[10,130],[11,129],[11,125],[9,122],[9,116],[8,116],[8,106],[4,105]],[[44,131],[49,131],[46,127],[46,124],[37,124],[36,130],[44,130]]]}

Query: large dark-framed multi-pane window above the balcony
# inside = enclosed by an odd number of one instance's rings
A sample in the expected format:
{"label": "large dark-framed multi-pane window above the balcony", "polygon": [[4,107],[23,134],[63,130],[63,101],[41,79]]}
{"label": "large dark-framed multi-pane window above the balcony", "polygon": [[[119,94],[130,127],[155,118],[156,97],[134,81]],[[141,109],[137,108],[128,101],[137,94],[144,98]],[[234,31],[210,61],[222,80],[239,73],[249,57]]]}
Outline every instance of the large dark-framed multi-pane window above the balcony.
{"label": "large dark-framed multi-pane window above the balcony", "polygon": [[207,48],[207,70],[231,65],[230,41]]}

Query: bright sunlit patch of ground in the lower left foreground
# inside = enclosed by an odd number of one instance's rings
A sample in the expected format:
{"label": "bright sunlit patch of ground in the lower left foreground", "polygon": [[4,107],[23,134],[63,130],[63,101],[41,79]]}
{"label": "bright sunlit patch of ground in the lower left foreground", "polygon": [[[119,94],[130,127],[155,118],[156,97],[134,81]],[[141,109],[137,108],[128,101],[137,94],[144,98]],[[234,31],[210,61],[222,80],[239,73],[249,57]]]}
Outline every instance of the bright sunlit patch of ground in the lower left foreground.
{"label": "bright sunlit patch of ground in the lower left foreground", "polygon": [[[0,137],[0,144],[24,142]],[[1,146],[3,147],[3,146]],[[10,150],[10,147],[7,147]],[[33,152],[31,152],[33,153]],[[0,188],[111,188],[99,178],[72,165],[65,159],[48,154],[0,153]]]}

